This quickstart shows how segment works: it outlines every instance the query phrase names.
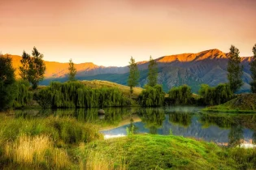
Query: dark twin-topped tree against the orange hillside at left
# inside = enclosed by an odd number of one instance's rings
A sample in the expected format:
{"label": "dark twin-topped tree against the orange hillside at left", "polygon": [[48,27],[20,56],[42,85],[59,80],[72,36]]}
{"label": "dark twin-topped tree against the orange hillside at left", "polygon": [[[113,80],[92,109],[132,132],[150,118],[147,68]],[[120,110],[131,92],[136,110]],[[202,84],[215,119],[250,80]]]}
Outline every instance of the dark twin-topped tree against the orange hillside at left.
{"label": "dark twin-topped tree against the orange hillside at left", "polygon": [[21,79],[28,80],[29,83],[32,83],[33,89],[36,89],[38,83],[44,79],[46,64],[42,60],[44,55],[39,53],[36,47],[33,48],[32,55],[33,57],[30,57],[24,51],[20,61],[20,77]]}

